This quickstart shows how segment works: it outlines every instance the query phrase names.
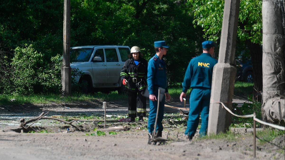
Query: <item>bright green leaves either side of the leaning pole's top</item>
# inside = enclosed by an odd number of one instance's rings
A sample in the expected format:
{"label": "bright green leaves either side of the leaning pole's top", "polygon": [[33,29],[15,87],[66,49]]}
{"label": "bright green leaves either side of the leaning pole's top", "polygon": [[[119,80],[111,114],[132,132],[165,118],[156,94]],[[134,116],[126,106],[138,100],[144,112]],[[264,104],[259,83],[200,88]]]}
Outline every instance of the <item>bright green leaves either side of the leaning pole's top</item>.
{"label": "bright green leaves either side of the leaning pole's top", "polygon": [[[225,1],[188,0],[193,5],[193,23],[203,28],[204,38],[217,41],[221,36]],[[240,41],[250,40],[262,44],[262,1],[241,0],[237,37]]]}

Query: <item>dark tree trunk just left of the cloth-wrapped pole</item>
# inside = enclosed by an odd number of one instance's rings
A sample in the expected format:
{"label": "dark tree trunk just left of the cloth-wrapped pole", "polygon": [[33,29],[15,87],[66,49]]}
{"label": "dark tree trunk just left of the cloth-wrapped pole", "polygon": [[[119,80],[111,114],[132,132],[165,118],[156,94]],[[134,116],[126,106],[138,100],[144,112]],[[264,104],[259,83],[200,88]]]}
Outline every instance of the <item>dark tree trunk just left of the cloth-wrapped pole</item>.
{"label": "dark tree trunk just left of the cloth-wrapped pole", "polygon": [[252,70],[253,70],[253,100],[261,102],[262,100],[262,48],[260,44],[256,44],[247,40],[249,53],[251,54]]}

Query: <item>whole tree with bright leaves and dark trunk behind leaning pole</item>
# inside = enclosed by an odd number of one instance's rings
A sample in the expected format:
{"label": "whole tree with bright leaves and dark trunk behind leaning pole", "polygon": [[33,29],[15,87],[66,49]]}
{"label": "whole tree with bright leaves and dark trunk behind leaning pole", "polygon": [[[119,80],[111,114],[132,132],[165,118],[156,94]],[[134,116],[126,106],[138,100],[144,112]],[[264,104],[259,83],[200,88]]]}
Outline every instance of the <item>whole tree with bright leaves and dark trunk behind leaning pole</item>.
{"label": "whole tree with bright leaves and dark trunk behind leaning pole", "polygon": [[[223,22],[225,1],[187,0],[193,6],[195,26],[201,26],[203,37],[219,41]],[[262,1],[240,0],[239,21],[237,28],[236,57],[248,60],[251,57],[253,68],[253,91],[255,100],[261,100],[258,92],[262,91]],[[241,52],[242,51],[242,52]],[[259,97],[259,98],[258,98]]]}

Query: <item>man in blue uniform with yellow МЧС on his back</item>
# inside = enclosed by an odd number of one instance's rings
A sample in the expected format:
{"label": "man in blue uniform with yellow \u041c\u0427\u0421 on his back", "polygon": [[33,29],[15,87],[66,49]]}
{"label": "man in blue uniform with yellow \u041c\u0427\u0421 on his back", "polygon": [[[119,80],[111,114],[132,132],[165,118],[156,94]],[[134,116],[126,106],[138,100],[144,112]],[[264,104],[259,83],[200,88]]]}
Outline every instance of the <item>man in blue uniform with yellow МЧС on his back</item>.
{"label": "man in blue uniform with yellow \u041c\u0427\u0421 on his back", "polygon": [[192,88],[189,118],[184,133],[189,140],[192,140],[196,133],[200,112],[202,124],[199,136],[205,136],[207,132],[213,67],[217,63],[217,60],[212,58],[215,46],[215,43],[209,40],[202,43],[203,53],[190,61],[182,83],[181,102],[189,87]]}

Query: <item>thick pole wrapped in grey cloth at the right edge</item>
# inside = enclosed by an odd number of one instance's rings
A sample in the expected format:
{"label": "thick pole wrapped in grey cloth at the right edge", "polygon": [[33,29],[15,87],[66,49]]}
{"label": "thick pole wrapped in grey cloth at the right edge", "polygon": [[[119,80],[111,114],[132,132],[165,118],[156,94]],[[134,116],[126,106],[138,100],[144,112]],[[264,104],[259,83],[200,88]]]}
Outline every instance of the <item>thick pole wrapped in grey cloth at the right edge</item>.
{"label": "thick pole wrapped in grey cloth at the right edge", "polygon": [[262,1],[262,120],[284,125],[284,0]]}

